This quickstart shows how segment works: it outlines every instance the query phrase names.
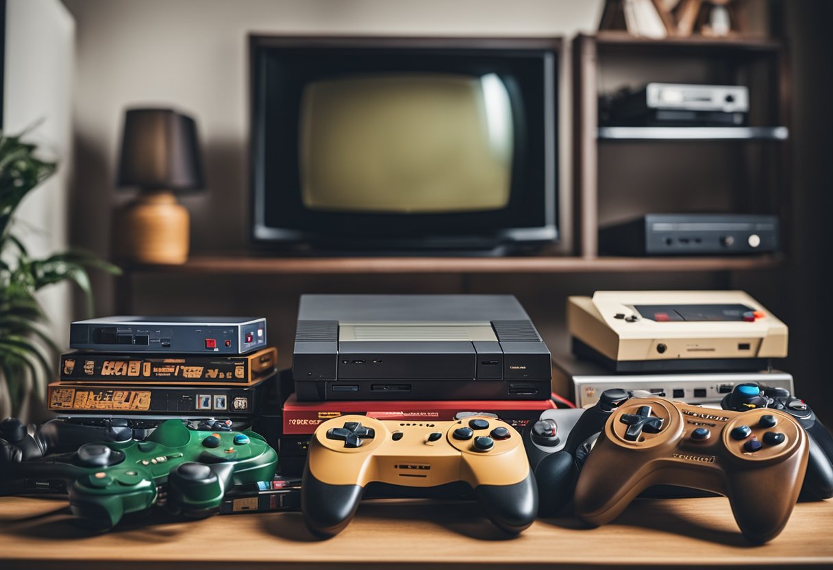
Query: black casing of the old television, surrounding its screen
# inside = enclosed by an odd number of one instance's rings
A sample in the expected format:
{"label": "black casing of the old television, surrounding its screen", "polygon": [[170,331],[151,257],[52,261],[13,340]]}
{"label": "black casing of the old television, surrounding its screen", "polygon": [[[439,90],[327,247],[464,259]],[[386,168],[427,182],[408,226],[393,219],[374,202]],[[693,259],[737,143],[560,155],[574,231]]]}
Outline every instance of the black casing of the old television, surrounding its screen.
{"label": "black casing of the old television, surrounding its screen", "polygon": [[[503,255],[555,242],[560,54],[558,37],[250,36],[253,245],[300,255]],[[506,208],[402,215],[303,206],[297,125],[304,85],[401,71],[498,72],[517,79],[516,157]]]}

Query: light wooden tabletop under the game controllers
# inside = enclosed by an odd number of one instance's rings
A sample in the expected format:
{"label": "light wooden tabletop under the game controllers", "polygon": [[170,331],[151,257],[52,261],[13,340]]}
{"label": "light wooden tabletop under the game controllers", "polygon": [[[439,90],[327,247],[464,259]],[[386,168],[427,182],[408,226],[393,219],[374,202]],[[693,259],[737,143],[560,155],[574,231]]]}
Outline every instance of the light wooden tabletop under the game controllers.
{"label": "light wooden tabletop under the game controllers", "polygon": [[761,547],[741,537],[725,498],[639,499],[605,527],[561,517],[516,538],[473,502],[366,501],[327,541],[297,512],[145,519],[93,535],[72,524],[66,502],[0,498],[0,568],[833,567],[833,501],[800,503]]}

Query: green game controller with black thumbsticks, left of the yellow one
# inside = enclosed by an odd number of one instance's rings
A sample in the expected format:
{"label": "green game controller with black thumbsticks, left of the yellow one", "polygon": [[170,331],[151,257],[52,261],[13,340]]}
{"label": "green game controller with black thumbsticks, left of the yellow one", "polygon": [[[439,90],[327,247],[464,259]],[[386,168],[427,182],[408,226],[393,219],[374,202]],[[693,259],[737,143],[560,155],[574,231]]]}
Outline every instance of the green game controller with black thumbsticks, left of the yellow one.
{"label": "green game controller with black thumbsticks, left of the yellow one", "polygon": [[172,419],[141,442],[84,443],[75,453],[12,464],[0,487],[63,480],[72,513],[107,530],[162,502],[170,512],[207,517],[230,488],[271,480],[276,466],[277,453],[257,433],[194,431]]}

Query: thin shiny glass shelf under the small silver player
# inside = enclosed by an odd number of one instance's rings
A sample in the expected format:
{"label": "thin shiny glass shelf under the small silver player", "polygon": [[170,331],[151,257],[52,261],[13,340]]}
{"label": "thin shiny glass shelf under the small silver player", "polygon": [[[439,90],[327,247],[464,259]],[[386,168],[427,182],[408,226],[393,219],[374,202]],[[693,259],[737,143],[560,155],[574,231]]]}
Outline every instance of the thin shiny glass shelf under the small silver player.
{"label": "thin shiny glass shelf under the small silver player", "polygon": [[616,141],[786,141],[786,127],[599,127],[596,137]]}

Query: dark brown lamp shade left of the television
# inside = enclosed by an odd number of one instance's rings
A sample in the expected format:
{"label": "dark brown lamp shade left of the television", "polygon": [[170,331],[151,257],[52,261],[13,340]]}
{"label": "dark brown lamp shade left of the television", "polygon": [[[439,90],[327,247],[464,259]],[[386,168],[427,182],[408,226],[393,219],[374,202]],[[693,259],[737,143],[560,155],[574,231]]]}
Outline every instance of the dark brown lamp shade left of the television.
{"label": "dark brown lamp shade left of the television", "polygon": [[197,123],[172,109],[128,109],[118,185],[166,190],[202,188]]}

